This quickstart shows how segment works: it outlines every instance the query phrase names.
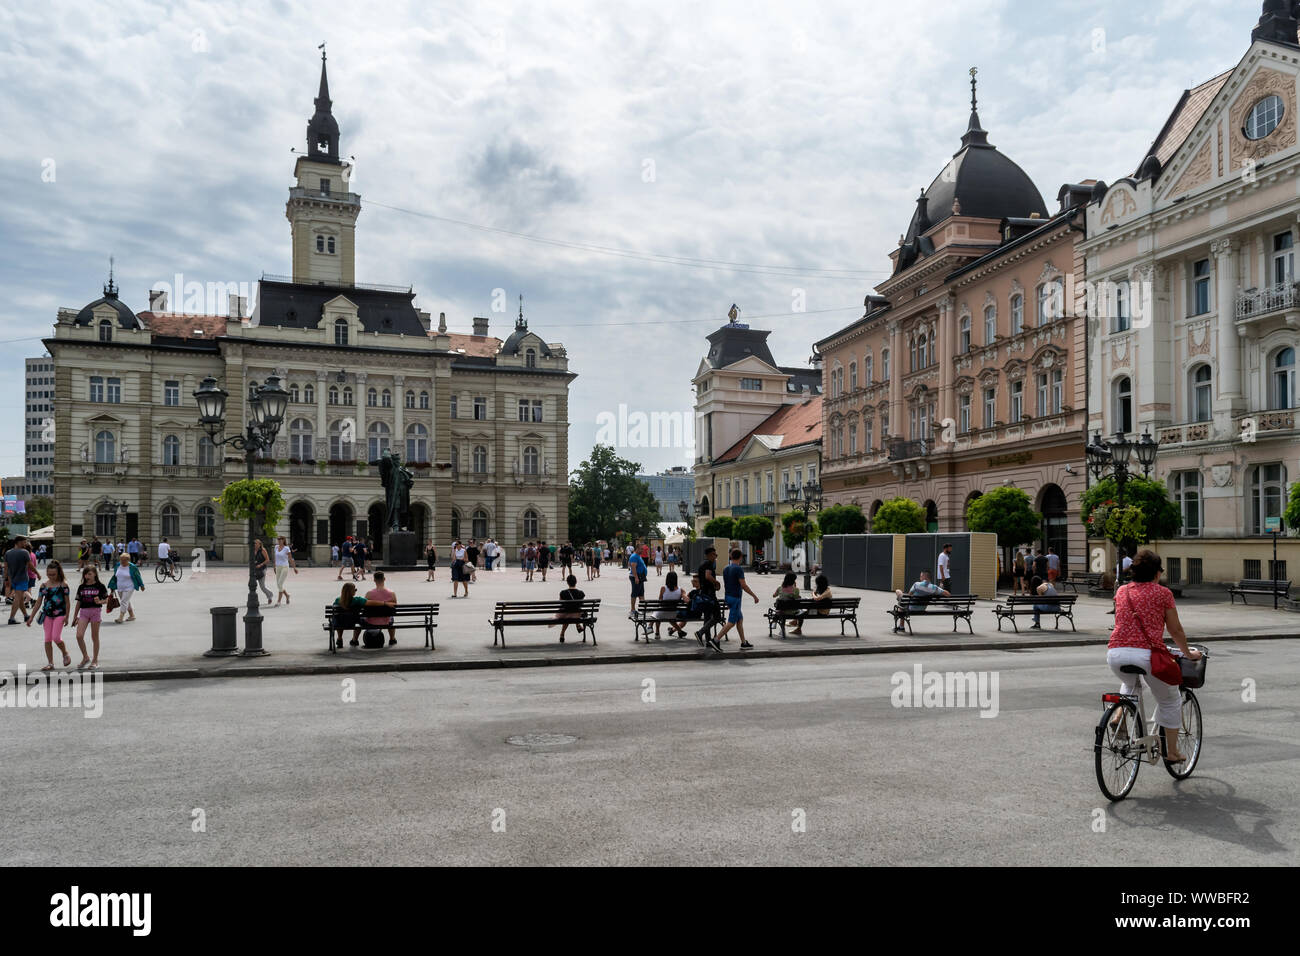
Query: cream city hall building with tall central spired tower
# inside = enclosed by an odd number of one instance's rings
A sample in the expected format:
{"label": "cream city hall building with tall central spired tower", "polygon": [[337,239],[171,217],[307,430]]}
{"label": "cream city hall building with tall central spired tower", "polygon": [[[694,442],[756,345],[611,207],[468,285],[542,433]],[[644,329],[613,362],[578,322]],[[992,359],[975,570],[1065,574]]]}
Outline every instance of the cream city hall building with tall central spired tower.
{"label": "cream city hall building with tall central spired tower", "polygon": [[[229,393],[226,434],[242,432],[252,382],[280,376],[283,427],[256,473],[287,503],[280,533],[299,558],[325,562],[347,535],[384,548],[385,493],[370,464],[385,450],[415,473],[412,531],[441,548],[494,536],[568,533],[568,371],[564,349],[530,330],[520,304],[507,337],[474,319],[469,333],[433,324],[410,287],[355,281],[361,199],[339,159],[324,57],[285,215],[291,276],[263,276],[247,313],[169,311],[162,293],[135,312],[112,277],[101,298],[60,310],[53,360],[56,550],[81,538],[168,537],[231,561],[246,525],[213,505],[246,473],[242,453],[214,445],[192,397],[204,377]],[[506,330],[503,330],[506,332]]]}

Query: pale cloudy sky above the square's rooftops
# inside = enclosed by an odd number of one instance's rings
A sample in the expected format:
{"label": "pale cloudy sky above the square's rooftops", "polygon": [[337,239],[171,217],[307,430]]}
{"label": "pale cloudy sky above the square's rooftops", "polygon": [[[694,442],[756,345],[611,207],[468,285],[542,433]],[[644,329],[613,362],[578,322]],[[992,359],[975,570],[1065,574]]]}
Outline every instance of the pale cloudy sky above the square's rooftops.
{"label": "pale cloudy sky above the square's rooftops", "polygon": [[[571,466],[601,412],[681,412],[740,306],[783,364],[861,315],[965,130],[1054,208],[1141,160],[1183,88],[1245,52],[1258,0],[98,3],[0,8],[0,375],[58,307],[179,272],[290,271],[290,148],[328,42],[361,194],[358,280],[452,330],[517,295],[571,368]],[[504,312],[493,293],[506,291]],[[802,298],[802,310],[798,306]],[[806,311],[805,311],[806,310]],[[689,428],[688,428],[689,433]],[[686,449],[624,449],[647,468]],[[0,475],[22,471],[0,416]]]}

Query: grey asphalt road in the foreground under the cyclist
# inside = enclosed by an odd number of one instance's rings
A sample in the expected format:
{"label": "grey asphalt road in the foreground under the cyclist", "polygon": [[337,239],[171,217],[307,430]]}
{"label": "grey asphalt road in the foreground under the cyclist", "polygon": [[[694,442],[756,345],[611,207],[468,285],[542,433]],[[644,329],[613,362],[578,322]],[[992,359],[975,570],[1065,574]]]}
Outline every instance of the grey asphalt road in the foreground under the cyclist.
{"label": "grey asphalt road in the foreground under the cyclist", "polygon": [[[1100,648],[108,684],[0,709],[0,862],[1294,866],[1300,641],[1213,654],[1196,774],[1113,806]],[[997,715],[893,706],[918,663]]]}

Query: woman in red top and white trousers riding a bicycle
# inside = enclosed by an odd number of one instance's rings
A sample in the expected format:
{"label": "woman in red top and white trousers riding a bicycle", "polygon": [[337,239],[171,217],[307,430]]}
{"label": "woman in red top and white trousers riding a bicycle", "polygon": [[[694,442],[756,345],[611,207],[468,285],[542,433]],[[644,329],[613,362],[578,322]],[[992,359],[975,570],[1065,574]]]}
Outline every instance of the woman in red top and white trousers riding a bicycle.
{"label": "woman in red top and white trousers riding a bicycle", "polygon": [[[1138,680],[1145,680],[1156,698],[1156,721],[1165,730],[1166,757],[1170,763],[1187,760],[1178,749],[1182,728],[1182,691],[1178,684],[1166,684],[1150,674],[1150,652],[1165,645],[1165,628],[1188,659],[1199,661],[1201,652],[1187,646],[1187,635],[1178,619],[1173,592],[1160,584],[1162,570],[1160,557],[1149,550],[1138,551],[1132,562],[1132,584],[1115,592],[1115,630],[1110,633],[1106,665],[1119,678],[1119,693],[1136,692]],[[1141,675],[1124,674],[1119,669],[1136,665]],[[1141,732],[1140,728],[1136,732]]]}

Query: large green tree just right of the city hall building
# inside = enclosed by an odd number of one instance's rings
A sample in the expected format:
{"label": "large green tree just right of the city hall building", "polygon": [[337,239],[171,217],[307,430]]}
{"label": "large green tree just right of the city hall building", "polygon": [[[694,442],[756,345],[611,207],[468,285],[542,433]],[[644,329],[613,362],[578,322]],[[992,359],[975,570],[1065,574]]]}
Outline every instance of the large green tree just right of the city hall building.
{"label": "large green tree just right of the city hall building", "polygon": [[612,540],[619,532],[649,537],[659,524],[659,505],[638,462],[597,445],[569,477],[569,540]]}

